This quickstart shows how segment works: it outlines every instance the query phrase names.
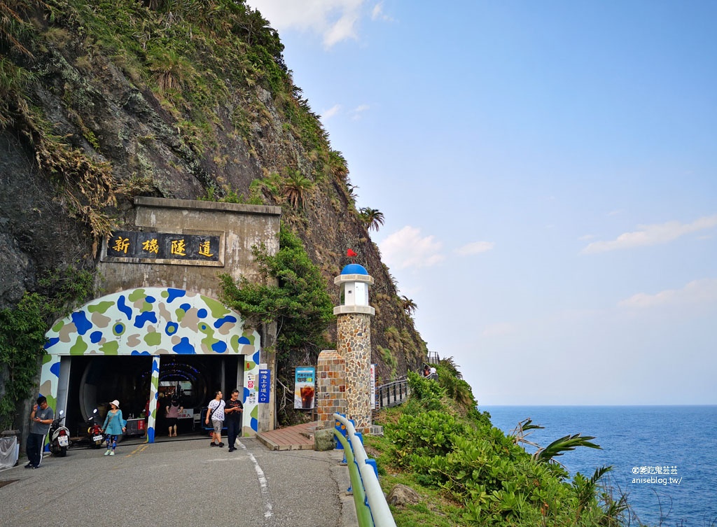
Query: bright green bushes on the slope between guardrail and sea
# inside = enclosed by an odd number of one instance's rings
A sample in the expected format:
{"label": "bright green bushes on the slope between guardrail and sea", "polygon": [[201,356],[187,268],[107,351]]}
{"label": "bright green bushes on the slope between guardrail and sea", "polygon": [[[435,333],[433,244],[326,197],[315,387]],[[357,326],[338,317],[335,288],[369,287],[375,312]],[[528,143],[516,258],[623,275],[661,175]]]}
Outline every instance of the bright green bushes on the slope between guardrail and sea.
{"label": "bright green bushes on the slope between guardrail and sea", "polygon": [[[439,367],[438,381],[409,374],[407,404],[379,415],[385,437],[366,438],[369,449],[380,452],[384,490],[404,483],[432,500],[430,507],[394,508],[399,526],[627,524],[625,498],[614,500],[599,483],[609,467],[568,481],[551,457],[536,459],[493,427],[488,414],[467,411],[464,402],[451,397],[445,386],[460,386],[451,370]],[[590,445],[569,444],[563,450],[574,446]],[[553,455],[560,453],[553,449]]]}

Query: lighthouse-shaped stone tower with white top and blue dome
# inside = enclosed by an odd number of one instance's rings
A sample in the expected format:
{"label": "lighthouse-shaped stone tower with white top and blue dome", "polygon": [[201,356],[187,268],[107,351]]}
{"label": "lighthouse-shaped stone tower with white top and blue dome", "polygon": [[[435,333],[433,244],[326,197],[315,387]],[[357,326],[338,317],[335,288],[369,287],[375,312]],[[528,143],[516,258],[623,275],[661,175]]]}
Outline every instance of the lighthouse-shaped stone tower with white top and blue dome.
{"label": "lighthouse-shaped stone tower with white top and blue dome", "polygon": [[341,287],[336,315],[336,351],[346,361],[346,417],[353,419],[358,432],[371,427],[371,317],[369,285],[374,279],[359,264],[349,264],[333,283]]}

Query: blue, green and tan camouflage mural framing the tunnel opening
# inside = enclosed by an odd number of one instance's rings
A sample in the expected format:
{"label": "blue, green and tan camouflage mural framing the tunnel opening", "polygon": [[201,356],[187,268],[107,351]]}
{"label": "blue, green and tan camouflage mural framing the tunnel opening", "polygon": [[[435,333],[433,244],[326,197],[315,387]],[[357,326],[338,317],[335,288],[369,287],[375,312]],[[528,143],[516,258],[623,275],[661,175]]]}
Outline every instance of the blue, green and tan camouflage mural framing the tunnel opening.
{"label": "blue, green and tan camouflage mural framing the tunnel opening", "polygon": [[[159,356],[243,355],[244,429],[257,432],[260,336],[244,331],[241,315],[214,298],[174,288],[141,288],[95,298],[57,321],[47,332],[45,348],[39,391],[54,408],[61,356],[153,356],[150,399],[156,402]],[[148,419],[150,442],[155,419],[153,411]]]}

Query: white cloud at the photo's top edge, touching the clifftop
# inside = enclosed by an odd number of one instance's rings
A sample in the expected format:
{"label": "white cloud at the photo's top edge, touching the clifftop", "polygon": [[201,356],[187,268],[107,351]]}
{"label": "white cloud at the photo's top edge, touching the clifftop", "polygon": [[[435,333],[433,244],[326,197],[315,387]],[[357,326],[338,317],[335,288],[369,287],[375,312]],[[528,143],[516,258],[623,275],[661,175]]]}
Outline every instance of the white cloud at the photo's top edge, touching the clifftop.
{"label": "white cloud at the photo's top edge, touching the clifftop", "polygon": [[364,0],[248,0],[274,29],[318,34],[326,47],[358,37],[356,27]]}

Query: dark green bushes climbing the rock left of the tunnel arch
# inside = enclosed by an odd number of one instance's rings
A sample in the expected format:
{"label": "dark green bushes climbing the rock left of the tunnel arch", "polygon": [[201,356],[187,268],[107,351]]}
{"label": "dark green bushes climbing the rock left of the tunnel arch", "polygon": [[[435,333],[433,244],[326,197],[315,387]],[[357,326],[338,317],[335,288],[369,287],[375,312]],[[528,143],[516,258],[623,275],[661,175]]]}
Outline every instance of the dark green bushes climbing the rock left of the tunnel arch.
{"label": "dark green bushes climbing the rock left of the tunnel arch", "polygon": [[11,428],[16,408],[32,394],[45,333],[58,315],[92,293],[92,273],[67,266],[39,280],[39,292],[25,293],[14,308],[0,310],[0,365],[5,369],[0,429]]}

